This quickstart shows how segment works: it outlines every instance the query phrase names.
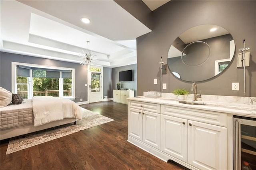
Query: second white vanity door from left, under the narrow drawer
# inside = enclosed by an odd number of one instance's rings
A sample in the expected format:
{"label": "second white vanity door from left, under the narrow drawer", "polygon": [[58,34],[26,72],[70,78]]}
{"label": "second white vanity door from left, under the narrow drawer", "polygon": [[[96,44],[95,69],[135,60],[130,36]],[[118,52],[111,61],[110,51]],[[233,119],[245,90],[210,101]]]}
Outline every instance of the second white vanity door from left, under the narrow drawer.
{"label": "second white vanity door from left, under the narrow drawer", "polygon": [[143,142],[161,150],[161,114],[142,111]]}

